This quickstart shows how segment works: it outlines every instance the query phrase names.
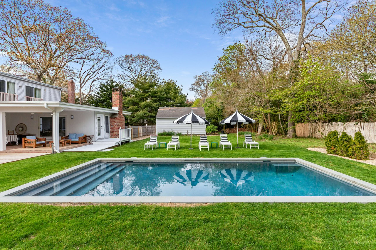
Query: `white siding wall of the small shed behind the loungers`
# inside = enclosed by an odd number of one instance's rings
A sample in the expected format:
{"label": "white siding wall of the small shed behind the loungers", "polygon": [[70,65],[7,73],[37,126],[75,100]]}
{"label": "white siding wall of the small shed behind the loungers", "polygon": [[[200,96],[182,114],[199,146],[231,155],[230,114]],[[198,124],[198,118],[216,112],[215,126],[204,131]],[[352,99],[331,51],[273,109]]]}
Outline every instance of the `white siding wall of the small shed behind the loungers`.
{"label": "white siding wall of the small shed behind the loungers", "polygon": [[[172,130],[176,133],[190,134],[191,124],[173,123],[177,118],[156,118],[157,134]],[[205,124],[192,124],[192,134],[206,134],[205,129]]]}

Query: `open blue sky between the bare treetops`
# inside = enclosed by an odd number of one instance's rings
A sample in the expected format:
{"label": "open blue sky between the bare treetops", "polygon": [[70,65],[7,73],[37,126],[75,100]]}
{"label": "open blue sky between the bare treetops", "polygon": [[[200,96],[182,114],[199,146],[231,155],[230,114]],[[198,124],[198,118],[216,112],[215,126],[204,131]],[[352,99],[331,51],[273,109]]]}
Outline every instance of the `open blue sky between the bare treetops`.
{"label": "open blue sky between the bare treetops", "polygon": [[217,0],[47,0],[90,24],[114,56],[145,54],[161,64],[163,78],[177,80],[183,93],[193,77],[211,71],[222,48],[241,32],[219,36],[212,27]]}

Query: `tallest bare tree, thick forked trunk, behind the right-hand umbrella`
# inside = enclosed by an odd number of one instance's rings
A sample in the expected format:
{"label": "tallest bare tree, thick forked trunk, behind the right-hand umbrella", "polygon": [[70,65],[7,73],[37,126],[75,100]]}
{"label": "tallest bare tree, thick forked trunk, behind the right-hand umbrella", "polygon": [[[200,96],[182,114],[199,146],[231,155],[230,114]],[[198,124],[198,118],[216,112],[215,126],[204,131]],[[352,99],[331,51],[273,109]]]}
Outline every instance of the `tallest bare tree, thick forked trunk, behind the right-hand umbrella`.
{"label": "tallest bare tree, thick forked trunk, behind the right-hand umbrella", "polygon": [[[320,38],[333,15],[342,11],[343,6],[343,2],[335,0],[223,0],[214,11],[214,25],[221,35],[238,27],[260,38],[268,33],[276,34],[284,44],[283,56],[287,56],[290,64],[293,83],[304,45]],[[287,137],[294,135],[293,110],[290,110]]]}

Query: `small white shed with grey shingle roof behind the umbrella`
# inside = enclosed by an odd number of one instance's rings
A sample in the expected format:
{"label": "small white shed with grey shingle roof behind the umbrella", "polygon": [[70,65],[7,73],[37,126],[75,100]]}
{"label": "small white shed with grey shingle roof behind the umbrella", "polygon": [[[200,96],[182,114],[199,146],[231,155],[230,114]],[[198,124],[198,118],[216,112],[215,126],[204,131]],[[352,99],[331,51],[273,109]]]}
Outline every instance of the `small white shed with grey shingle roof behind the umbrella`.
{"label": "small white shed with grey shingle roof behind the umbrella", "polygon": [[[177,118],[191,113],[191,107],[160,107],[156,115],[157,134],[163,131],[175,131],[176,133],[191,134],[191,124],[174,123]],[[193,108],[193,113],[206,118],[203,107]],[[205,124],[192,124],[192,134],[205,134]]]}

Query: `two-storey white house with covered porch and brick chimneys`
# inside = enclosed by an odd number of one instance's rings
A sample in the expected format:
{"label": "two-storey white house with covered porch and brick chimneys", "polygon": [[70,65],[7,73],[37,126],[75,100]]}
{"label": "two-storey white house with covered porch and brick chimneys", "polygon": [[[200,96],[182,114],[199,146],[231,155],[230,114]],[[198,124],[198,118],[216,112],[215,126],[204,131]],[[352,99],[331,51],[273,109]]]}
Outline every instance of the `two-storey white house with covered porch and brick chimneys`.
{"label": "two-storey white house with covered porch and brick chimneys", "polygon": [[[5,136],[14,131],[19,139],[33,134],[53,140],[69,133],[92,135],[93,141],[119,138],[124,128],[121,89],[113,89],[112,108],[74,104],[74,82],[68,81],[68,102],[61,102],[62,88],[0,72],[0,151],[6,150]],[[22,127],[22,131],[16,130]]]}

